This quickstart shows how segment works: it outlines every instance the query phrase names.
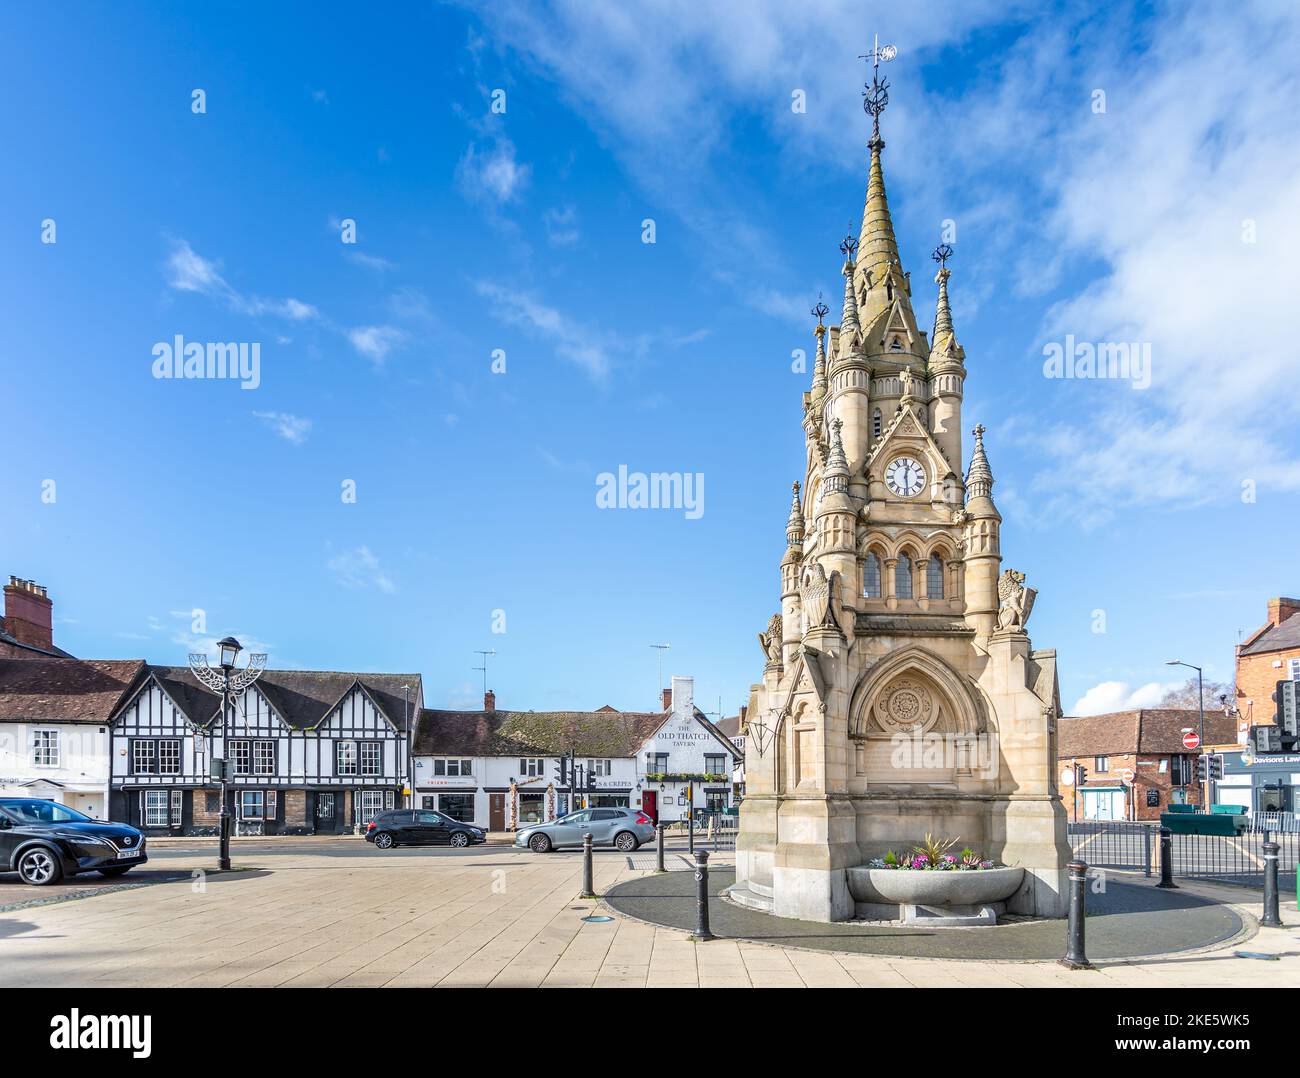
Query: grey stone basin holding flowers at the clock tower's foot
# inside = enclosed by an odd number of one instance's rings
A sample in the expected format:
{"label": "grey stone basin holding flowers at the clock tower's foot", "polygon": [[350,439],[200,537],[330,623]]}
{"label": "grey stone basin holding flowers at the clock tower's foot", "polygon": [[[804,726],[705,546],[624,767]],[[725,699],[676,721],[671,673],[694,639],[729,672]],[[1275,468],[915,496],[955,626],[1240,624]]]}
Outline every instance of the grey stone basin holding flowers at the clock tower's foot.
{"label": "grey stone basin holding flowers at the clock tower's foot", "polygon": [[996,925],[997,914],[1024,882],[1024,869],[849,869],[858,917],[905,925],[967,927]]}

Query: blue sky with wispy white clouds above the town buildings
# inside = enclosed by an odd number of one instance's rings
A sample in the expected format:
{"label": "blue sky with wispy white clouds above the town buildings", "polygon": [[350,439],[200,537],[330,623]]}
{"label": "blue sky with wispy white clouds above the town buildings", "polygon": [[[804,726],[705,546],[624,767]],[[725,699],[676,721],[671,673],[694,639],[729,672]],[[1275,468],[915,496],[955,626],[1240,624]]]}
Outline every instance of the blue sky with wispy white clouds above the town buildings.
{"label": "blue sky with wispy white clouds above the town buildings", "polygon": [[[1153,702],[1166,658],[1230,676],[1300,589],[1300,25],[1270,4],[10,8],[0,571],[84,657],[234,632],[477,706],[491,648],[502,706],[637,709],[670,642],[734,713],[876,33],[918,319],[953,221],[965,419],[1066,707]],[[176,334],[260,343],[261,384],[153,378]],[[1067,334],[1149,343],[1150,386],[1045,378]],[[620,464],[703,473],[703,515],[598,510]]]}

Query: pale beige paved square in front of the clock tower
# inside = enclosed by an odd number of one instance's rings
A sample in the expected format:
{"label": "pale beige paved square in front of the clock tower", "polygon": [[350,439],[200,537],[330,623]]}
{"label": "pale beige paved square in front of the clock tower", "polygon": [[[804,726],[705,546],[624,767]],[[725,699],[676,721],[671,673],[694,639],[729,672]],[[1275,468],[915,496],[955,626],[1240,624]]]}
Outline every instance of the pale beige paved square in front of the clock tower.
{"label": "pale beige paved square in front of the clock tower", "polygon": [[[644,856],[633,858],[640,863]],[[729,862],[725,854],[716,863]],[[1287,928],[1197,954],[1104,962],[967,962],[814,953],[685,932],[578,900],[575,853],[508,847],[384,854],[359,840],[237,844],[242,871],[204,875],[200,843],[155,850],[179,878],[0,913],[5,987],[1184,987],[1300,986],[1300,917]],[[191,876],[190,874],[194,873]],[[595,860],[597,889],[644,875],[628,858]],[[130,879],[130,878],[127,878]],[[81,889],[77,887],[75,889]],[[1209,888],[1197,888],[1210,893]],[[57,893],[57,892],[56,892]],[[1218,888],[1258,912],[1258,892]],[[0,876],[0,906],[51,897]],[[1062,945],[1065,926],[1062,925]],[[1275,962],[1236,958],[1248,949]]]}

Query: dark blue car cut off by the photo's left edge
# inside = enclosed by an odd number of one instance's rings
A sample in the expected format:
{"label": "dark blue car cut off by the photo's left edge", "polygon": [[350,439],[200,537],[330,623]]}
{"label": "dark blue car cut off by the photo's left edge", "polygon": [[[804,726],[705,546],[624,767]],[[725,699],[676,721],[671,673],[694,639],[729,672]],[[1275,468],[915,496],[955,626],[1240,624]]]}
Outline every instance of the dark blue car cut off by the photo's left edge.
{"label": "dark blue car cut off by the photo's left edge", "polygon": [[43,887],[78,873],[120,876],[150,858],[125,823],[91,819],[55,801],[0,797],[0,873]]}

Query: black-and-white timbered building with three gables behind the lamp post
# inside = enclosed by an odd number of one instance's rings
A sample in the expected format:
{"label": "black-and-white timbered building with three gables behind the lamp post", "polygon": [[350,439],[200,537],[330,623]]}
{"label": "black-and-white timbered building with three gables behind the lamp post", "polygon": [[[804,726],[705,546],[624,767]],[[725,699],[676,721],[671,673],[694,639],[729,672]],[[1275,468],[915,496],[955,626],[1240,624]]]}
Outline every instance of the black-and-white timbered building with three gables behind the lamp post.
{"label": "black-and-white timbered building with three gables behind the lamp post", "polygon": [[342,834],[402,804],[419,674],[268,670],[237,701],[222,723],[187,668],[150,666],[109,727],[112,819],[216,834],[214,757],[231,762],[237,834]]}

